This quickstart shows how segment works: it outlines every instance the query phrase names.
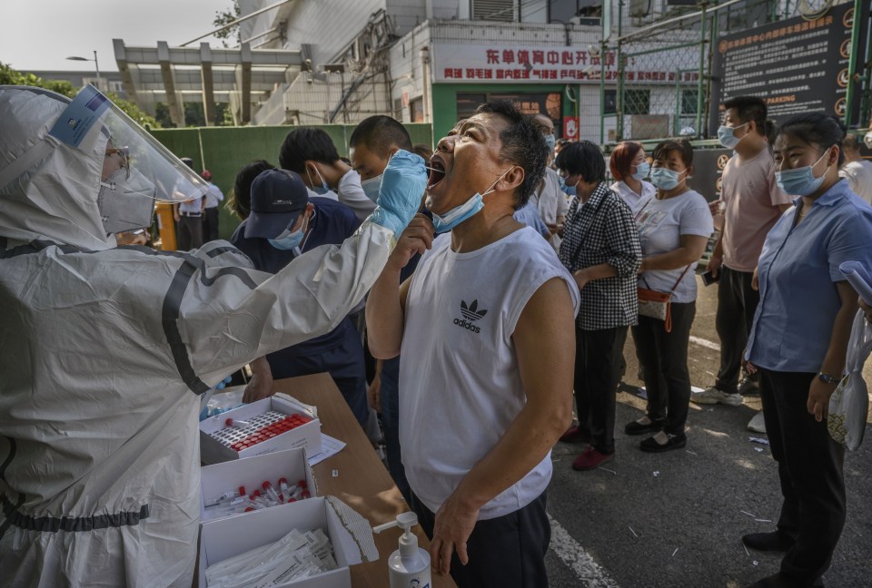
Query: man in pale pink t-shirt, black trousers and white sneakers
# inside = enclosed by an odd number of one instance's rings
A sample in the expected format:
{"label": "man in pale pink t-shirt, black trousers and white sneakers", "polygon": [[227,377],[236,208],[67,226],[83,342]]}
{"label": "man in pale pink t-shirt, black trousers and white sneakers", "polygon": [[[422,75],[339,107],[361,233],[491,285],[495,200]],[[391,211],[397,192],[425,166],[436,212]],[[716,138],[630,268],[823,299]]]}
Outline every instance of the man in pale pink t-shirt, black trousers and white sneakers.
{"label": "man in pale pink t-shirt, black trousers and white sneakers", "polygon": [[[691,396],[697,404],[735,407],[742,404],[741,393],[759,387],[756,379],[739,382],[738,378],[760,298],[751,287],[751,278],[766,234],[790,206],[790,197],[775,181],[775,162],[766,139],[771,122],[766,117],[762,98],[738,96],[724,103],[718,138],[734,153],[721,183],[721,201],[726,206],[724,227],[706,268],[719,279],[715,326],[720,338],[720,368],[714,386]],[[717,207],[718,203],[711,203],[713,214]]]}

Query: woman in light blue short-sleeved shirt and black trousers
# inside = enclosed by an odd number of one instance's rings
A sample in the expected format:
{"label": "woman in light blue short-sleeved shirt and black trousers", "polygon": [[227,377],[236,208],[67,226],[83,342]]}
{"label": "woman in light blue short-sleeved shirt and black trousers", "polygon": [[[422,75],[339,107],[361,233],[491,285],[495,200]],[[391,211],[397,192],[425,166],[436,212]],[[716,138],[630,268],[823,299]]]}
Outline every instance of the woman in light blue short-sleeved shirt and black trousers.
{"label": "woman in light blue short-sleeved shirt and black trousers", "polygon": [[776,180],[796,199],[760,255],[745,358],[749,372],[760,372],[784,503],[776,531],[742,540],[787,553],[780,572],[754,587],[820,585],[845,523],[844,448],[827,432],[827,406],[845,368],[857,292],[838,266],[872,265],[872,207],[838,177],[844,135],[834,118],[800,114],[774,144]]}

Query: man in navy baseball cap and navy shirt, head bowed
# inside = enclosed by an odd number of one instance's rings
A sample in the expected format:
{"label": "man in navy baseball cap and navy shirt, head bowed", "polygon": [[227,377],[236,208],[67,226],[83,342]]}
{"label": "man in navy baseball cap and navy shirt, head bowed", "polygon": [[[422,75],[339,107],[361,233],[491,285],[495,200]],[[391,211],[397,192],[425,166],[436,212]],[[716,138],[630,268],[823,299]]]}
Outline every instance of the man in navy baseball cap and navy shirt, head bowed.
{"label": "man in navy baseball cap and navy shirt, head bowed", "polygon": [[[257,270],[276,273],[294,258],[321,245],[339,244],[360,226],[354,212],[330,198],[309,197],[300,176],[263,171],[251,189],[252,211],[236,229],[233,245]],[[322,337],[276,351],[251,364],[253,386],[246,401],[272,394],[272,379],[329,372],[361,426],[366,426],[366,371],[361,337],[345,317]]]}

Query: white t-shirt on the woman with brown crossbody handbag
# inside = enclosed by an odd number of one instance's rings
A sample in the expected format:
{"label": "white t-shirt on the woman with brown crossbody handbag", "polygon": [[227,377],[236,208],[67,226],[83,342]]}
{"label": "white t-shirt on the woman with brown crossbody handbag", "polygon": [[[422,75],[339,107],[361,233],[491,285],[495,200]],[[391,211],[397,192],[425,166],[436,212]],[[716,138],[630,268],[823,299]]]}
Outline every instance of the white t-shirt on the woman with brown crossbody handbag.
{"label": "white t-shirt on the woman with brown crossbody handbag", "polygon": [[[715,230],[706,199],[693,190],[666,200],[652,198],[639,211],[636,221],[639,223],[643,258],[677,250],[681,235],[698,235],[708,239]],[[639,275],[639,288],[669,292],[682,271],[684,268],[646,271]],[[691,267],[675,289],[672,301],[692,302],[696,299],[697,279]]]}

